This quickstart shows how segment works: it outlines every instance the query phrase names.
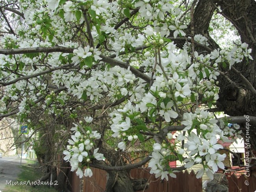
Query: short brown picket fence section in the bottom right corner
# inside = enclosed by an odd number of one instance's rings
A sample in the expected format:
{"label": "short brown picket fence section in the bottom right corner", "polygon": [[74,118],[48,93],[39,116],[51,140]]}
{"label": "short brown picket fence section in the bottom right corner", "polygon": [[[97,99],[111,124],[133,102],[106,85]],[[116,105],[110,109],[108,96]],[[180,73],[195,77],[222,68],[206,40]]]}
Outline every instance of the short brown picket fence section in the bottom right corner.
{"label": "short brown picket fence section in the bottom right corner", "polygon": [[235,174],[228,179],[228,192],[254,192],[256,191],[256,176],[246,177],[241,175],[239,178]]}

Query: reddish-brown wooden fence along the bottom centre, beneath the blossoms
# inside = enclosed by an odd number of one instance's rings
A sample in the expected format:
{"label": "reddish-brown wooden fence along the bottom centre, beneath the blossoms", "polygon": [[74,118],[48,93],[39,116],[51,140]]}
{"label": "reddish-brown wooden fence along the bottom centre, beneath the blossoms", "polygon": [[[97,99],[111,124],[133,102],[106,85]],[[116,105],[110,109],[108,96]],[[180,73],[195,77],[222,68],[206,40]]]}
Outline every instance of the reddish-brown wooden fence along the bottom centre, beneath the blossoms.
{"label": "reddish-brown wooden fence along the bottom centre, beneath the blossoms", "polygon": [[[84,177],[82,192],[104,192],[107,182],[107,172],[92,168],[93,176]],[[149,187],[140,192],[202,192],[202,179],[197,179],[195,173],[185,172],[176,173],[177,178],[169,177],[169,181],[161,181],[149,173],[149,169],[133,169],[130,176],[135,179],[147,178]],[[124,189],[125,191],[125,189]],[[76,192],[72,190],[72,192]]]}

